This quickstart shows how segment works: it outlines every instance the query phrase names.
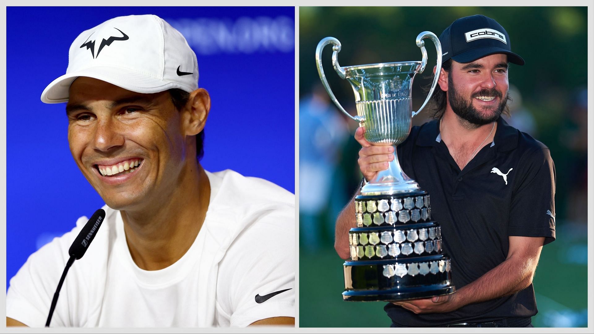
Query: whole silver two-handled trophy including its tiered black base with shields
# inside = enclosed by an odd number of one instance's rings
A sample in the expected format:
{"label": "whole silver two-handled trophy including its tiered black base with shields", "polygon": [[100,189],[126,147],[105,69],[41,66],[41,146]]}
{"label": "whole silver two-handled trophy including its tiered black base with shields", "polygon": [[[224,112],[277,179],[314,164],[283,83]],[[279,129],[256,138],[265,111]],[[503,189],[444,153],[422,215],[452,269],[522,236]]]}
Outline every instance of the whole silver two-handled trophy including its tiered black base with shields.
{"label": "whole silver two-handled trophy including its tiered black base with shields", "polygon": [[[411,89],[417,73],[427,64],[424,39],[437,49],[437,70],[441,70],[441,44],[437,36],[424,31],[416,37],[422,61],[388,62],[341,67],[342,46],[334,37],[318,43],[315,62],[324,88],[336,106],[365,128],[365,139],[373,145],[393,145],[394,159],[378,172],[355,198],[357,227],[349,231],[351,259],[344,264],[345,292],[349,301],[399,301],[451,294],[450,259],[441,254],[441,228],[431,220],[429,195],[400,168],[396,146],[409,136],[413,116]],[[357,116],[340,105],[328,85],[322,67],[322,51],[333,45],[332,65],[340,78],[349,81],[355,93]],[[436,232],[437,231],[437,232]]]}

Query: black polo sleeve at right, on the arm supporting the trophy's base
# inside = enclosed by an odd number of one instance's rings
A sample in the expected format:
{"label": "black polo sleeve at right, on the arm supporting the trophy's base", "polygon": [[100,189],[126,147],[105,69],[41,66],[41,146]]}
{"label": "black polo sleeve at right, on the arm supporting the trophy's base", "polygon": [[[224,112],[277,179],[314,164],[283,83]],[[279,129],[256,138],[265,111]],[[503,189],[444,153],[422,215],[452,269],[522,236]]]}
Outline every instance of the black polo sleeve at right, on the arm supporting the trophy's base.
{"label": "black polo sleeve at right, on the arm supporting the trophy's base", "polygon": [[525,152],[514,184],[508,234],[555,240],[555,165],[547,148]]}

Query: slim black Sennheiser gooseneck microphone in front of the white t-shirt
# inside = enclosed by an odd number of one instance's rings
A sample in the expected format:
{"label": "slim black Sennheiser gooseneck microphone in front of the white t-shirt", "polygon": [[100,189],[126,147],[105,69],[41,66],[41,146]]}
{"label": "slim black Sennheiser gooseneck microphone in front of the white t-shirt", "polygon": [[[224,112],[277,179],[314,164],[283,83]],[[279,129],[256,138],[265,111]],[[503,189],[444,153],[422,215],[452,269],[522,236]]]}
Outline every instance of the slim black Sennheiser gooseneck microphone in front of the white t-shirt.
{"label": "slim black Sennheiser gooseneck microphone in front of the white t-shirt", "polygon": [[89,221],[84,225],[83,229],[80,230],[74,242],[72,242],[72,245],[68,250],[68,255],[70,258],[66,263],[64,272],[62,272],[62,277],[58,283],[58,288],[56,288],[56,293],[53,294],[52,305],[49,307],[48,321],[45,323],[46,327],[49,327],[49,323],[52,321],[53,310],[55,310],[56,304],[58,303],[60,289],[62,289],[62,283],[64,283],[68,269],[70,269],[70,266],[72,266],[74,260],[80,260],[81,257],[83,257],[84,253],[87,251],[87,248],[89,248],[91,241],[93,241],[97,231],[101,227],[103,219],[105,219],[105,210],[97,210],[95,213],[93,213],[91,219],[89,219]]}

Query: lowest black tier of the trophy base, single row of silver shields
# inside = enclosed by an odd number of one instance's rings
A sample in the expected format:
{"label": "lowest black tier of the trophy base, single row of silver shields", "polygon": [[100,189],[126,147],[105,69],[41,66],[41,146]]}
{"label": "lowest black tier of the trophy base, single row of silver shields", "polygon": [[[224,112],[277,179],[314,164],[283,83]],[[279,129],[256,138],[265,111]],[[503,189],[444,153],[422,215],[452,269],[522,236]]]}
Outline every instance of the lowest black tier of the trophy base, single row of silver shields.
{"label": "lowest black tier of the trophy base, single row of silver shields", "polygon": [[346,261],[346,301],[402,301],[452,294],[450,259],[443,254],[409,259]]}

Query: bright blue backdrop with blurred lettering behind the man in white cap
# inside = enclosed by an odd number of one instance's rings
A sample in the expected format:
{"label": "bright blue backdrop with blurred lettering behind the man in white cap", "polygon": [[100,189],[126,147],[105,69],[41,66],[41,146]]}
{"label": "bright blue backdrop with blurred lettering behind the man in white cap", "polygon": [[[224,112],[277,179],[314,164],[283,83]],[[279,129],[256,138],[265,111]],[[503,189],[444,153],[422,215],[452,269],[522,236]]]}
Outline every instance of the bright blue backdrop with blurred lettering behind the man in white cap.
{"label": "bright blue backdrop with blurred lettering behind the man in white cap", "polygon": [[204,168],[295,192],[295,8],[8,7],[7,287],[31,253],[104,204],[70,155],[65,103],[40,95],[78,34],[131,14],[159,15],[196,52],[212,101]]}

